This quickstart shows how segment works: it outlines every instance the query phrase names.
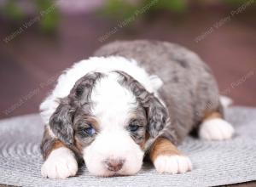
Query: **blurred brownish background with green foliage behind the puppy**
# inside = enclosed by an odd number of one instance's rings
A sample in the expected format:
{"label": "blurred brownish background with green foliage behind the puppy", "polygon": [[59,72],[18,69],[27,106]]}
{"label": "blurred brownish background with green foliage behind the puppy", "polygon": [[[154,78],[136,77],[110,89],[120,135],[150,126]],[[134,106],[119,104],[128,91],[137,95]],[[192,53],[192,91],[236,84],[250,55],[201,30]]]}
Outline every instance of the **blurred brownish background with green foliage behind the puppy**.
{"label": "blurred brownish background with green foliage behind the puppy", "polygon": [[38,112],[65,68],[114,40],[177,42],[256,106],[255,0],[0,0],[0,118]]}

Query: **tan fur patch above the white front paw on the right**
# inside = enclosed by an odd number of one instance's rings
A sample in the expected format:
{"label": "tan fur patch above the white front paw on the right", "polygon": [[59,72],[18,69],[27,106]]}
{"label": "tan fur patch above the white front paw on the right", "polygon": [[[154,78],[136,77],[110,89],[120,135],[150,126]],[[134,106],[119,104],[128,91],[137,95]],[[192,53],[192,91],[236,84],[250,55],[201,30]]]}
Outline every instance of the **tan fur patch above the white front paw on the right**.
{"label": "tan fur patch above the white front paw on the right", "polygon": [[182,155],[177,147],[172,144],[168,139],[158,138],[154,141],[154,144],[150,150],[150,159],[154,162],[157,156],[173,156]]}

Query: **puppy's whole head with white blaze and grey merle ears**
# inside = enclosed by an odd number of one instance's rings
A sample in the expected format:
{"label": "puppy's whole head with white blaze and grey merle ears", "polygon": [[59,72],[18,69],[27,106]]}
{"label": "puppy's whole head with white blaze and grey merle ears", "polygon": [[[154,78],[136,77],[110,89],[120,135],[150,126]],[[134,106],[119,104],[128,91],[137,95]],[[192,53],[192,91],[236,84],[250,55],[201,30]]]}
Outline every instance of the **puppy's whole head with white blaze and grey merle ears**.
{"label": "puppy's whole head with white blaze and grey merle ears", "polygon": [[49,126],[77,147],[90,173],[131,175],[142,167],[148,137],[160,133],[167,117],[159,99],[125,72],[94,72],[61,99]]}

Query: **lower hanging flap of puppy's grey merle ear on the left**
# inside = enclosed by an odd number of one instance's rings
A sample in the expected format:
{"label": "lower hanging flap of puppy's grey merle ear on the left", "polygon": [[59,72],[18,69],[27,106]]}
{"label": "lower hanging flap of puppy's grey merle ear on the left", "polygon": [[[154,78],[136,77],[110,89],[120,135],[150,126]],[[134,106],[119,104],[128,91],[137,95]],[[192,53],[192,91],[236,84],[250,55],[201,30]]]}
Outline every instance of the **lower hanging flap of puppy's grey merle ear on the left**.
{"label": "lower hanging flap of puppy's grey merle ear on the left", "polygon": [[61,99],[61,104],[49,119],[49,127],[55,136],[65,144],[73,144],[74,109],[68,98]]}

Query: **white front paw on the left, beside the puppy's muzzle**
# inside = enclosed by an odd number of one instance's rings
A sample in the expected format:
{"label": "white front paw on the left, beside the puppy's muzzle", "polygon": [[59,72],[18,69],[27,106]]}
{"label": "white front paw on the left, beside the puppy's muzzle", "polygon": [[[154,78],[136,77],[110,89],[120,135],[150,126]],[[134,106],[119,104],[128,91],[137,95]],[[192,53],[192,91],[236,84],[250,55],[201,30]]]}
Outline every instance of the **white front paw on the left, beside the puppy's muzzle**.
{"label": "white front paw on the left, beside the puppy's muzzle", "polygon": [[78,172],[78,162],[66,147],[53,150],[41,168],[44,178],[67,178]]}

